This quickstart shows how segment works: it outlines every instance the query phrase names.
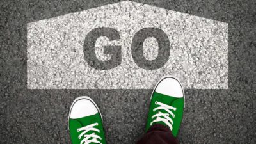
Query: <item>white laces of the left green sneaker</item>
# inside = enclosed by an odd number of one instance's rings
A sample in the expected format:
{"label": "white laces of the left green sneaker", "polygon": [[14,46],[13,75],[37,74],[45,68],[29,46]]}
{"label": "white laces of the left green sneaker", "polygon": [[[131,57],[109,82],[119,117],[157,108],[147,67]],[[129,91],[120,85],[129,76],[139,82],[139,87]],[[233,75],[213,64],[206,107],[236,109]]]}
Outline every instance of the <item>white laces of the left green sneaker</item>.
{"label": "white laces of the left green sneaker", "polygon": [[[100,143],[99,140],[102,140],[102,138],[100,138],[100,136],[98,136],[95,133],[92,134],[86,134],[88,131],[96,131],[100,133],[99,129],[94,128],[96,125],[98,125],[98,123],[94,123],[91,125],[87,125],[85,127],[81,127],[79,129],[77,129],[77,132],[83,131],[81,134],[79,134],[78,138],[81,139],[82,136],[84,136],[83,140],[81,141],[81,144],[89,144],[89,143]],[[90,138],[92,138],[91,140],[89,140]],[[102,143],[100,143],[102,144]]]}

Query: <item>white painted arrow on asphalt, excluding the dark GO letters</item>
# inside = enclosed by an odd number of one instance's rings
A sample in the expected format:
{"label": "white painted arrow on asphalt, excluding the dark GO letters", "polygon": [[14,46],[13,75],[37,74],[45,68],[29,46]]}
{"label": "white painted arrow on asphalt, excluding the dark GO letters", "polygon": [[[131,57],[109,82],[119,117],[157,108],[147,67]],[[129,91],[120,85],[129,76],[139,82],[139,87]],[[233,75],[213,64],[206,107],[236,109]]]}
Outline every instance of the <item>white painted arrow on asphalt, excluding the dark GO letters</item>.
{"label": "white painted arrow on asphalt, excluding the dark GO letters", "polygon": [[[102,27],[120,35],[95,42],[100,61],[114,56],[104,54],[104,45],[121,47],[120,65],[108,70],[88,65],[83,51],[86,35]],[[168,36],[170,56],[161,68],[141,68],[132,58],[132,39],[143,28],[158,28]],[[146,60],[158,56],[156,39],[143,42]],[[28,24],[30,89],[149,89],[166,75],[179,77],[184,88],[228,88],[228,24],[132,1]]]}

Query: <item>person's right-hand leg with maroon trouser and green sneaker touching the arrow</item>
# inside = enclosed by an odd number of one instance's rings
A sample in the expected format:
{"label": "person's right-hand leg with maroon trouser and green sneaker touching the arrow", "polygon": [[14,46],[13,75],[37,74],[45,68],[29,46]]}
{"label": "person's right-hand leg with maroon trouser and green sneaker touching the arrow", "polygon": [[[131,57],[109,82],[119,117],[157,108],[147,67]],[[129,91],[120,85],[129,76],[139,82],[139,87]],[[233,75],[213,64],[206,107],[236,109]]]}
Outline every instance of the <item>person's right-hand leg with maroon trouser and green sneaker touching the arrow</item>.
{"label": "person's right-hand leg with maroon trouser and green sneaker touching the arrow", "polygon": [[146,134],[137,144],[173,144],[182,121],[184,92],[179,80],[172,76],[163,77],[154,89]]}

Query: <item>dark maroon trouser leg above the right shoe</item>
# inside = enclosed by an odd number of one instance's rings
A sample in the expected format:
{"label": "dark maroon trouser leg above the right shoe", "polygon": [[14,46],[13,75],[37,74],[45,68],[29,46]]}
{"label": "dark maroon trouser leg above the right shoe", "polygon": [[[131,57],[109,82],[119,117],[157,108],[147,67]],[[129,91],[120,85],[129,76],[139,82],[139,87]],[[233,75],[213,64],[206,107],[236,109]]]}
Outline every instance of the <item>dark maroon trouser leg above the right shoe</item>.
{"label": "dark maroon trouser leg above the right shoe", "polygon": [[168,127],[155,124],[136,144],[178,144],[178,141]]}

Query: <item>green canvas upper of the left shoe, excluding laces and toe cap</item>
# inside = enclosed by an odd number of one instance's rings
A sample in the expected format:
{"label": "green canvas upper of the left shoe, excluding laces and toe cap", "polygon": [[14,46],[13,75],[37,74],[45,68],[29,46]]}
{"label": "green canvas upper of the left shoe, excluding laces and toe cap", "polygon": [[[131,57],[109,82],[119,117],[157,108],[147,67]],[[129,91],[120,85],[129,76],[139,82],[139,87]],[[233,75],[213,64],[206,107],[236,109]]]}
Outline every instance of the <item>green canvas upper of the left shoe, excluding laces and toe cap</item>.
{"label": "green canvas upper of the left shoe, excluding laces and toe cap", "polygon": [[[100,138],[102,138],[102,140],[100,140],[100,139],[97,139],[97,140],[100,141],[100,143],[102,143],[102,144],[106,144],[102,119],[101,119],[99,112],[95,115],[85,116],[83,118],[77,118],[77,119],[69,118],[70,138],[71,138],[72,143],[80,144],[84,138],[84,136],[82,136],[79,139],[79,134],[81,134],[83,131],[77,132],[77,129],[85,127],[87,125],[95,124],[95,123],[98,123],[98,125],[94,126],[93,128],[99,129],[100,132],[88,131],[88,132],[86,132],[86,135],[95,133],[96,135],[100,136]],[[92,138],[90,138],[89,140],[91,140],[91,139]]]}

